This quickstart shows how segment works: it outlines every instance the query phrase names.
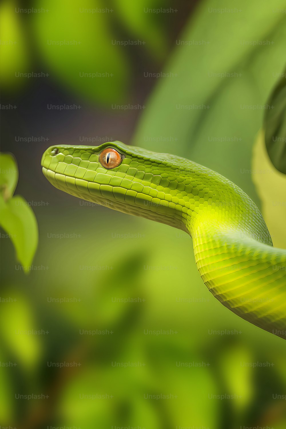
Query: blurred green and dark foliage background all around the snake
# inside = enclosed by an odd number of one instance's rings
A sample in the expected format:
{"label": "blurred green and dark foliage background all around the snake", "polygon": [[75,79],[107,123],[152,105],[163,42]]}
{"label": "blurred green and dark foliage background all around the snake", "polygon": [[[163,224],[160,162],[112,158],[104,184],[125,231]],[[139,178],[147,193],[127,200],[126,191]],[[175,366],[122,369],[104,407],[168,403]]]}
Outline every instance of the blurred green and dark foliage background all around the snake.
{"label": "blurred green and dark foliage background all around the snake", "polygon": [[178,154],[238,184],[286,248],[286,179],[259,132],[285,67],[285,9],[1,3],[1,151],[39,227],[25,269],[1,230],[2,426],[286,428],[285,341],[208,292],[190,237],[61,193],[40,166],[60,143]]}

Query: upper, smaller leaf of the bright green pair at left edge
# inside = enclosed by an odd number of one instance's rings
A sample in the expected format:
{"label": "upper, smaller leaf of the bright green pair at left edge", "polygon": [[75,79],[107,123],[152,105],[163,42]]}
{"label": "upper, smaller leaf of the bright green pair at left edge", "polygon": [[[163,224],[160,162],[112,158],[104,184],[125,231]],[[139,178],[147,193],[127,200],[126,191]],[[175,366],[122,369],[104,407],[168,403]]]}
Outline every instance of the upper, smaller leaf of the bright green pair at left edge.
{"label": "upper, smaller leaf of the bright green pair at left edge", "polygon": [[12,154],[0,153],[0,189],[5,201],[12,198],[18,182],[18,166]]}

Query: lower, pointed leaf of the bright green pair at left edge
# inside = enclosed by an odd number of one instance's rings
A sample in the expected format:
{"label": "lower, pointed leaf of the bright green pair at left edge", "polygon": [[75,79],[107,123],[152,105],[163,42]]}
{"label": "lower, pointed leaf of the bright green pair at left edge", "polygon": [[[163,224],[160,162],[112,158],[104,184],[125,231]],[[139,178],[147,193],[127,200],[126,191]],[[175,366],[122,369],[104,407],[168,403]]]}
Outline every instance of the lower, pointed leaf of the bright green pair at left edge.
{"label": "lower, pointed leaf of the bright green pair at left edge", "polygon": [[29,272],[38,245],[38,225],[33,210],[20,195],[7,202],[0,196],[0,215],[0,225],[9,234],[17,259],[25,272]]}

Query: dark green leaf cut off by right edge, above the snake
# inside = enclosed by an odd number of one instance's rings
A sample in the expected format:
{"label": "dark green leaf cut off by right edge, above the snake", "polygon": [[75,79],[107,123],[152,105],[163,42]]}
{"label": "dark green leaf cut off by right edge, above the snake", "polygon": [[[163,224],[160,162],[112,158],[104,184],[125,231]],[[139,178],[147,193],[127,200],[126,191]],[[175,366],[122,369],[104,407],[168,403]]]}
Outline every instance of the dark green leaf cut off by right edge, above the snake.
{"label": "dark green leaf cut off by right edge, above the snake", "polygon": [[274,167],[286,174],[286,73],[268,101],[266,111],[265,144]]}

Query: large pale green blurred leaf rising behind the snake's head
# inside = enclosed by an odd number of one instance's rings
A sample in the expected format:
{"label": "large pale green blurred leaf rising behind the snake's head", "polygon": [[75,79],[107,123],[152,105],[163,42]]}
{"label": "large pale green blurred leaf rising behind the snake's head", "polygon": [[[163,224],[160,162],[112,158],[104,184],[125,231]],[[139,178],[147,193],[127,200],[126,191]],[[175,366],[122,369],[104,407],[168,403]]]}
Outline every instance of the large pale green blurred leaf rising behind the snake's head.
{"label": "large pale green blurred leaf rising behind the snake's head", "polygon": [[200,3],[164,70],[177,77],[158,82],[131,144],[189,157],[257,201],[250,174],[241,169],[251,168],[273,72],[284,66],[284,17],[272,13],[284,6],[242,0],[236,12],[212,13],[229,2]]}

